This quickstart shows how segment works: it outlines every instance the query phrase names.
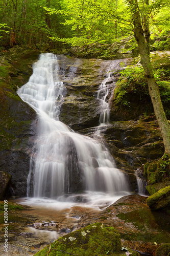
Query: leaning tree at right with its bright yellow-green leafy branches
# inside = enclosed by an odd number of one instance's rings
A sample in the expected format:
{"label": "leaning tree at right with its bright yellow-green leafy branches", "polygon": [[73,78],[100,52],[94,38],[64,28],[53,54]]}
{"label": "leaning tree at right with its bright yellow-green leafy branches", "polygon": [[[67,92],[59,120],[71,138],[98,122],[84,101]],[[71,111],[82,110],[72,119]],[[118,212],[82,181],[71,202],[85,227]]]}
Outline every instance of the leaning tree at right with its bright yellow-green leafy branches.
{"label": "leaning tree at right with its bright yellow-green leafy branches", "polygon": [[[150,59],[150,29],[160,20],[167,23],[169,13],[161,19],[158,12],[168,8],[167,0],[68,0],[67,8],[45,8],[49,14],[67,16],[64,25],[71,25],[74,34],[70,38],[53,37],[72,46],[120,40],[133,35],[140,53],[144,77],[163,137],[165,153],[170,155],[170,127],[163,110],[158,85],[155,81]],[[156,21],[154,17],[157,17]],[[160,24],[161,25],[161,24]]]}

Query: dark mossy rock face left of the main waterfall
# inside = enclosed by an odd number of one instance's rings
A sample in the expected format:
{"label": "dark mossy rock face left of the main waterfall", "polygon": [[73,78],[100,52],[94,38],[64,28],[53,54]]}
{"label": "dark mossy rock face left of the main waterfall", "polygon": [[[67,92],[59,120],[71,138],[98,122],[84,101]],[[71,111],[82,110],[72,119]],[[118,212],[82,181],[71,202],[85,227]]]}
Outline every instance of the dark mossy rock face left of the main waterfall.
{"label": "dark mossy rock face left of the main waterfall", "polygon": [[19,98],[16,90],[32,74],[31,64],[37,53],[19,48],[13,51],[0,56],[0,73],[3,72],[0,80],[0,170],[12,176],[11,186],[15,196],[26,196],[36,114]]}

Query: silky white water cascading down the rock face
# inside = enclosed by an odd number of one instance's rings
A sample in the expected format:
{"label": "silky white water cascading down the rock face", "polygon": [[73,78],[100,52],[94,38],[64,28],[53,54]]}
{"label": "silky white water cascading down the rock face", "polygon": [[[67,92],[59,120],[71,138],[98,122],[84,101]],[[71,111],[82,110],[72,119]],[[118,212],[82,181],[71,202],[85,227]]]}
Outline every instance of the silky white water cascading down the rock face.
{"label": "silky white water cascading down the rock face", "polygon": [[[38,116],[28,196],[36,200],[46,197],[66,201],[68,205],[68,201],[74,202],[78,196],[74,192],[85,190],[80,197],[85,198],[82,202],[88,205],[113,203],[128,194],[124,173],[115,167],[102,143],[72,132],[59,121],[64,86],[59,80],[58,68],[56,55],[41,54],[29,82],[18,90],[21,99],[30,104]],[[102,97],[105,101],[107,90]],[[101,122],[108,120],[109,114],[104,111]]]}

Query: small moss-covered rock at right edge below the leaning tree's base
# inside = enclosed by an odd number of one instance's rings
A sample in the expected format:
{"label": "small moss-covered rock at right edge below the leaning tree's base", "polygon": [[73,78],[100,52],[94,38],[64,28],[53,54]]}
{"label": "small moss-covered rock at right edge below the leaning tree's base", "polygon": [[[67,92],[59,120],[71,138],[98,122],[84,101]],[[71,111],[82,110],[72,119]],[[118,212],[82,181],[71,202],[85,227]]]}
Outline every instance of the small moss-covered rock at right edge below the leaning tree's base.
{"label": "small moss-covered rock at right edge below the leaning tree's base", "polygon": [[147,204],[152,210],[170,206],[170,186],[162,188],[147,198]]}

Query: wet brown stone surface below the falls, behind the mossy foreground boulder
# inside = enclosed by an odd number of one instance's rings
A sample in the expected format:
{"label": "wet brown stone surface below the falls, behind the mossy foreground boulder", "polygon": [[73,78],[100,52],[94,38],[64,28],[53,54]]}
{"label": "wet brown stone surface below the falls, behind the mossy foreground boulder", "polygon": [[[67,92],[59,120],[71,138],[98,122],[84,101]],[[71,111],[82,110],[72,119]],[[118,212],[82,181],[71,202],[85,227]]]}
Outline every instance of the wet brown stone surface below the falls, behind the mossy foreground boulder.
{"label": "wet brown stone surface below the falls, behind the mossy foreground boulder", "polygon": [[[63,210],[29,207],[9,211],[9,255],[32,255],[59,237],[95,222],[116,228],[122,246],[143,253],[155,255],[158,246],[170,242],[169,215],[152,212],[145,197],[130,195],[103,210],[77,205]],[[1,250],[3,228],[1,214]]]}

